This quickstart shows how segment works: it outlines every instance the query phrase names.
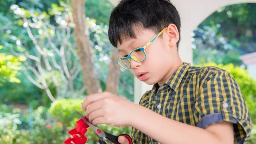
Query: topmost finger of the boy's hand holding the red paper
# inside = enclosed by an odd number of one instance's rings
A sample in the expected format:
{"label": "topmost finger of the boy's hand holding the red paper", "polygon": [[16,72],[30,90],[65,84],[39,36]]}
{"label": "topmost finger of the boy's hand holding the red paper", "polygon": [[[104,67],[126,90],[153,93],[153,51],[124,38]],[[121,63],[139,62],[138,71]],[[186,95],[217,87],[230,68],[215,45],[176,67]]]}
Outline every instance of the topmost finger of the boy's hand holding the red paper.
{"label": "topmost finger of the boy's hand holding the red paper", "polygon": [[109,94],[107,92],[100,92],[96,94],[91,94],[86,97],[86,99],[82,102],[81,110],[85,110],[88,105],[90,105],[92,102],[98,101],[101,98],[104,98],[108,96]]}

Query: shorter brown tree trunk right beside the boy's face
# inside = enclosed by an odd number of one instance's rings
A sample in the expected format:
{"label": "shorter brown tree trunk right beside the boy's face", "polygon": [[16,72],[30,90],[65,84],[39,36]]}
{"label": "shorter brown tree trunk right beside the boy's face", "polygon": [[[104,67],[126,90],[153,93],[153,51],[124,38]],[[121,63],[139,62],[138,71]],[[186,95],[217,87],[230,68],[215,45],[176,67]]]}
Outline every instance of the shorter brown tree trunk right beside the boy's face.
{"label": "shorter brown tree trunk right beside the boy's face", "polygon": [[108,76],[107,76],[107,86],[106,91],[112,92],[117,95],[118,85],[119,85],[119,77],[120,77],[120,67],[116,64],[116,60],[119,58],[119,53],[116,48],[112,51],[111,62],[108,68]]}

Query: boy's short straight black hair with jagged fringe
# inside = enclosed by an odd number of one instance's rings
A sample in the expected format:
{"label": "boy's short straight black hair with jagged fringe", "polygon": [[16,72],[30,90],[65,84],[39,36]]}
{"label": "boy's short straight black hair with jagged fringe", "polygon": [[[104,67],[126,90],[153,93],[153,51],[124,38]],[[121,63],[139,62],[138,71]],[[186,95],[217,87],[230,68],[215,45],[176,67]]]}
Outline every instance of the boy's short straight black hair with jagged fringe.
{"label": "boy's short straight black hair with jagged fringe", "polygon": [[159,33],[171,23],[180,34],[180,15],[170,0],[121,0],[111,12],[108,38],[117,47],[123,38],[136,38],[134,26]]}

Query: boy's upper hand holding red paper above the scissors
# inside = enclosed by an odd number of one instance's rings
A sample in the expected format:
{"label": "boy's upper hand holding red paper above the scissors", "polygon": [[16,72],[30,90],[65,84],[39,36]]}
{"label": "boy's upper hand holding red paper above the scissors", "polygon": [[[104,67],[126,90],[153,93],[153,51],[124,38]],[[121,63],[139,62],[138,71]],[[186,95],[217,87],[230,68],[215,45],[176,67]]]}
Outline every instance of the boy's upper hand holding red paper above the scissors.
{"label": "boy's upper hand holding red paper above the scissors", "polygon": [[86,110],[92,124],[125,127],[130,125],[136,105],[110,92],[101,92],[87,96],[81,109]]}

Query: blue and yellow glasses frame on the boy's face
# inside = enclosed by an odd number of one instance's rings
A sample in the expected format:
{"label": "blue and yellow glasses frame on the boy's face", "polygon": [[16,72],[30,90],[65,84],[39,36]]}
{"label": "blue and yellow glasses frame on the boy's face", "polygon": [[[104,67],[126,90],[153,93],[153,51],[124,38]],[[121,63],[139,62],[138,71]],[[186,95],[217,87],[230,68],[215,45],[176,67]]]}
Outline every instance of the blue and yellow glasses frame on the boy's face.
{"label": "blue and yellow glasses frame on the boy's face", "polygon": [[[116,64],[119,65],[119,66],[121,66],[121,67],[123,68],[123,66],[122,66],[121,64],[119,64],[119,61],[120,61],[121,59],[127,59],[128,62],[130,63],[130,59],[133,59],[133,58],[131,57],[131,54],[132,54],[135,50],[142,50],[143,53],[145,54],[145,59],[146,59],[147,56],[146,56],[145,48],[148,47],[151,43],[153,43],[153,42],[155,41],[155,39],[158,38],[166,29],[167,29],[167,27],[164,28],[161,32],[159,32],[154,38],[152,38],[152,39],[151,39],[148,43],[146,43],[143,47],[134,49],[132,52],[130,52],[130,54],[129,54],[127,57],[119,58],[119,59],[116,61]],[[145,59],[143,59],[142,61],[139,61],[139,62],[143,62]],[[133,60],[134,60],[135,62],[138,62],[138,61],[135,60],[135,59],[133,59]],[[131,64],[130,64],[129,68],[130,68],[130,67],[131,67]],[[124,69],[129,69],[129,68],[124,68]]]}

